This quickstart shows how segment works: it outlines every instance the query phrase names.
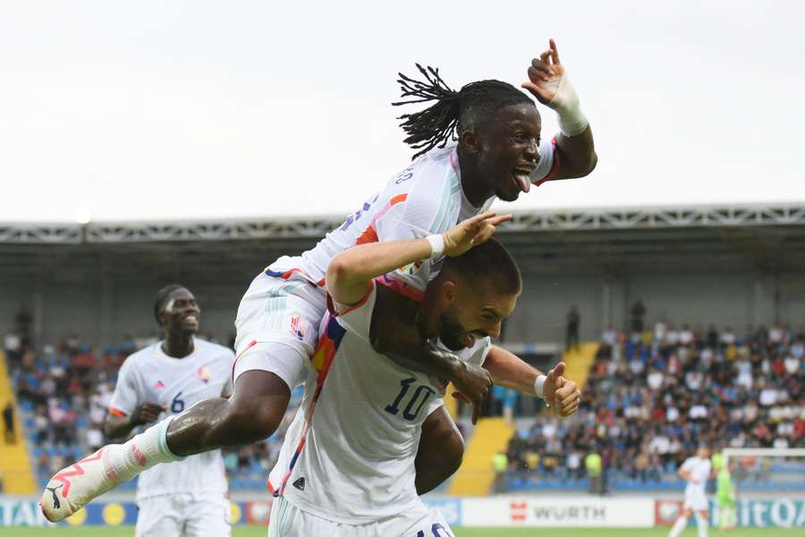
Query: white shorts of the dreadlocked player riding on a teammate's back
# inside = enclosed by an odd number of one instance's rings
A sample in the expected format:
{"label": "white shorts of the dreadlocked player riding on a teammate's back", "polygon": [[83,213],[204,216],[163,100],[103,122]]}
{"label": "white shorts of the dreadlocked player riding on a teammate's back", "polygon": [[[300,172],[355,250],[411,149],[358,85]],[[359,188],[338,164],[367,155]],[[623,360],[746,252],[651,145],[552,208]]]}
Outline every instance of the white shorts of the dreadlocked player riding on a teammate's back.
{"label": "white shorts of the dreadlocked player riding on a teammate's back", "polygon": [[274,373],[290,389],[304,382],[326,310],[326,291],[309,280],[258,274],[238,307],[233,380],[261,370]]}

